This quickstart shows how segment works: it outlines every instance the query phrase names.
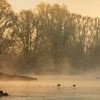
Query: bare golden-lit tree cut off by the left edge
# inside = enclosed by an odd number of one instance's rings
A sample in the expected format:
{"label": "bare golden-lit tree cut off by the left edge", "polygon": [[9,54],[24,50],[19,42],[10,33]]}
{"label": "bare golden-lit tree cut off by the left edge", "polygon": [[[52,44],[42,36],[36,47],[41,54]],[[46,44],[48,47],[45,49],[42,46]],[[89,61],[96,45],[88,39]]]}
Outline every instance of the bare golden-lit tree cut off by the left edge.
{"label": "bare golden-lit tree cut off by the left edge", "polygon": [[7,52],[12,44],[11,26],[13,12],[5,0],[0,0],[0,55]]}

